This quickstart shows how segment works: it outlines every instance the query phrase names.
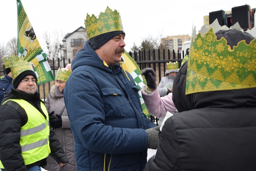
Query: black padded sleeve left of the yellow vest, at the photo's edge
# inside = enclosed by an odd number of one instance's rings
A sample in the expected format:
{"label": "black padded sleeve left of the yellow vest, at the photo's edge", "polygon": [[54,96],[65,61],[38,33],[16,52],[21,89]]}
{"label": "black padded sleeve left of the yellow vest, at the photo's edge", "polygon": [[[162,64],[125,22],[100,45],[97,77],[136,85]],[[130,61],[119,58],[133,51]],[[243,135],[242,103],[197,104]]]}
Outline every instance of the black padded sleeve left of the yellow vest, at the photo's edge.
{"label": "black padded sleeve left of the yellow vest, at the photo's edge", "polygon": [[[18,107],[18,110],[14,109]],[[19,144],[22,120],[24,120],[26,113],[13,101],[1,105],[0,113],[0,160],[5,170],[26,171],[28,169],[21,155]]]}

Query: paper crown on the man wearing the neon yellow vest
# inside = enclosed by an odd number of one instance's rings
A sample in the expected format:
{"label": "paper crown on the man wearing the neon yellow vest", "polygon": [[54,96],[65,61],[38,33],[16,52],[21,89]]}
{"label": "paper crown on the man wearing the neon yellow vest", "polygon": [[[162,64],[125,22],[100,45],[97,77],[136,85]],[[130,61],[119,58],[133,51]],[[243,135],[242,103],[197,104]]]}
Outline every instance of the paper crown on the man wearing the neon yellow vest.
{"label": "paper crown on the man wearing the neon yellow vest", "polygon": [[20,73],[27,70],[34,71],[31,62],[28,62],[27,60],[23,60],[22,58],[19,58],[18,61],[14,62],[14,64],[11,66],[13,80]]}

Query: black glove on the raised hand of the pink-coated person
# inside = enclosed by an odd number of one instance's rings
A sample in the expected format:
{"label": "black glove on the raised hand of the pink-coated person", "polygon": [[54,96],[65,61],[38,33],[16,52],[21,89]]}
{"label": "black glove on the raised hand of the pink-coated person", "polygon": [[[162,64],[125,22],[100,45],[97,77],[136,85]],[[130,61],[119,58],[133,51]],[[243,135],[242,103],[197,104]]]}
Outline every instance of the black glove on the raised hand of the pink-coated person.
{"label": "black glove on the raised hand of the pink-coated person", "polygon": [[148,88],[156,88],[156,72],[152,68],[142,69],[141,75],[145,76]]}

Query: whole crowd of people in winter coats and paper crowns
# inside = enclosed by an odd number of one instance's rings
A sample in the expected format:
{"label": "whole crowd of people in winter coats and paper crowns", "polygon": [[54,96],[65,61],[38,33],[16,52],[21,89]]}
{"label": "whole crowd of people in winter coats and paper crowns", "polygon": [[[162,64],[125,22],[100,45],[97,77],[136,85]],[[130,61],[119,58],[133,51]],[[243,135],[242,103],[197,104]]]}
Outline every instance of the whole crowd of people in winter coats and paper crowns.
{"label": "whole crowd of people in winter coats and paper crowns", "polygon": [[[168,63],[158,86],[155,71],[144,68],[142,97],[158,126],[119,63],[120,14],[107,7],[87,14],[85,26],[89,40],[58,69],[45,103],[31,63],[4,59],[2,171],[256,169],[256,29],[201,29],[182,67]],[[157,151],[147,161],[148,148]]]}

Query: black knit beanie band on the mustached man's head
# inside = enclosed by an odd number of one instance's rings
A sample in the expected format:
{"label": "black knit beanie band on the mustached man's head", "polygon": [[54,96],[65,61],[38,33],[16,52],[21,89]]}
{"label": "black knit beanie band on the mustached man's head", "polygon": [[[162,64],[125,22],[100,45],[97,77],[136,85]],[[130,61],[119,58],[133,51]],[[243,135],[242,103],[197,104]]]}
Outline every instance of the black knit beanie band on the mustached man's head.
{"label": "black knit beanie band on the mustached man's head", "polygon": [[94,51],[98,48],[100,48],[103,44],[108,42],[110,39],[115,37],[118,34],[125,34],[124,31],[111,31],[107,33],[103,33],[100,35],[96,35],[95,37],[90,39],[90,46],[94,49]]}

